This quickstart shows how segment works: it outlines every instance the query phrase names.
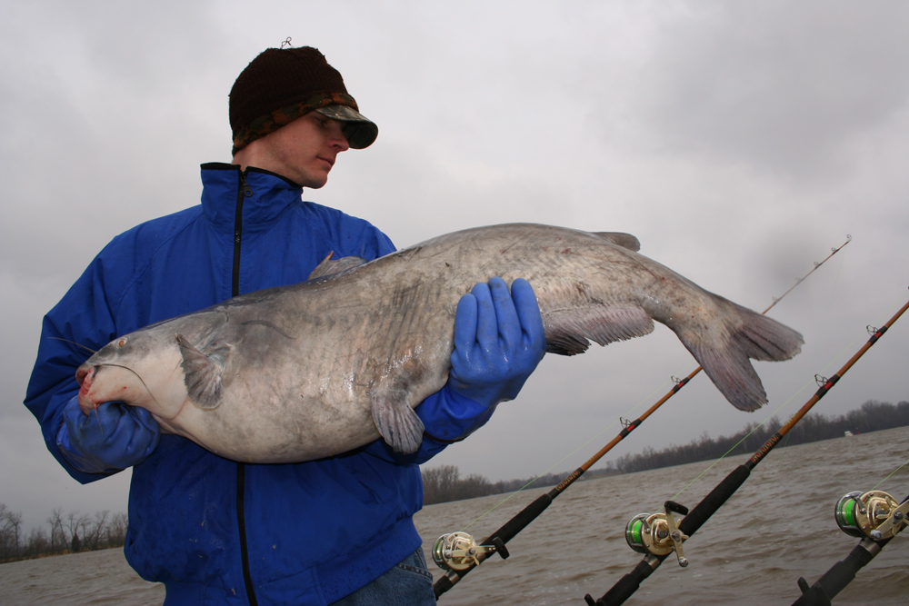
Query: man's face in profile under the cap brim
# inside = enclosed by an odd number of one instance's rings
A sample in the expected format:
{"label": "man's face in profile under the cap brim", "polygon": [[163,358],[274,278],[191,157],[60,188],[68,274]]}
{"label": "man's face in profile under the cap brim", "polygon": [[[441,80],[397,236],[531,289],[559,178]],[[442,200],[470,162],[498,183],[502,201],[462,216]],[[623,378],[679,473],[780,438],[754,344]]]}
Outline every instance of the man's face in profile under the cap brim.
{"label": "man's face in profile under the cap brim", "polygon": [[268,170],[312,189],[327,183],[337,154],[350,149],[341,123],[318,112],[266,134],[262,142],[269,156]]}

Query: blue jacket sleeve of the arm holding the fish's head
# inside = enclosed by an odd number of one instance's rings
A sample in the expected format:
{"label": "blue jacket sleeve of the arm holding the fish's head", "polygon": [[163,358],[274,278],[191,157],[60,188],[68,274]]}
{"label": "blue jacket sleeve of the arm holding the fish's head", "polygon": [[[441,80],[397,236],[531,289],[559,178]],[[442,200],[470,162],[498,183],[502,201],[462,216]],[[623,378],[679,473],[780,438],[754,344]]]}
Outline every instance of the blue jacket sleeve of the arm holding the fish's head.
{"label": "blue jacket sleeve of the arm holding the fish's head", "polygon": [[113,314],[105,292],[100,255],[45,315],[38,355],[25,393],[25,406],[41,424],[47,450],[75,480],[95,482],[111,473],[85,473],[66,462],[56,446],[65,404],[75,398],[79,385],[75,370],[92,353],[116,336]]}

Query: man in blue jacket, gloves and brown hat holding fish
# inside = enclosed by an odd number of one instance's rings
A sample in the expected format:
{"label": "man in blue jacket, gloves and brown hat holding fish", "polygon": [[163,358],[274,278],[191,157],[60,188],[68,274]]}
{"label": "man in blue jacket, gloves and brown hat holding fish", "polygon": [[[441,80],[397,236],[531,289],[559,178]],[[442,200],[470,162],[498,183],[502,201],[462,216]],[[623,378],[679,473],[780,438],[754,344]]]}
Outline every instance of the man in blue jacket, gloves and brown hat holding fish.
{"label": "man in blue jacket, gloves and brown hat holding fish", "polygon": [[301,282],[328,253],[395,250],[371,224],[301,201],[303,187],[325,185],[338,154],[378,133],[321,53],[258,55],[231,91],[230,121],[234,164],[203,164],[202,204],[117,236],[45,316],[25,404],[79,482],[133,466],[125,555],[165,583],[165,604],[433,604],[412,522],[417,463],[486,422],[543,357],[528,283],[509,293],[491,279],[464,295],[450,378],[416,408],[426,434],[412,455],[380,440],[315,462],[245,465],[161,435],[143,409],[107,402],[95,418],[78,408],[74,373],[87,356],[75,343],[99,349],[149,323]]}

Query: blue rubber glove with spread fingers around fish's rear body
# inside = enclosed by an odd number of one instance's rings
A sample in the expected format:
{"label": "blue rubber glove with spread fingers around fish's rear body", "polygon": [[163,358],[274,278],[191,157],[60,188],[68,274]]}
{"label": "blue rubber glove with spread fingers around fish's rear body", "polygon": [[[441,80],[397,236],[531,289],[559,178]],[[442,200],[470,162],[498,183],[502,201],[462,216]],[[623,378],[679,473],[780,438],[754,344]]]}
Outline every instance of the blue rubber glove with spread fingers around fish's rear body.
{"label": "blue rubber glove with spread fingers around fish's rear body", "polygon": [[454,352],[448,387],[487,408],[514,400],[546,352],[543,319],[530,283],[511,293],[502,278],[478,283],[454,314]]}

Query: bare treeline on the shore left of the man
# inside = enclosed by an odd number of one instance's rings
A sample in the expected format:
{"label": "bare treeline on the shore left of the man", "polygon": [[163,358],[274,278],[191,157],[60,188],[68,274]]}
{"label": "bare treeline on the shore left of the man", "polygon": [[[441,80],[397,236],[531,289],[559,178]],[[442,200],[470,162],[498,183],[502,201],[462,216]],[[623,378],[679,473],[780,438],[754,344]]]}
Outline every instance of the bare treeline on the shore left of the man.
{"label": "bare treeline on the shore left of the man", "polygon": [[46,523],[46,529],[32,528],[26,533],[22,512],[0,503],[0,562],[122,547],[126,540],[125,513],[111,515],[105,510],[90,516],[56,507]]}

